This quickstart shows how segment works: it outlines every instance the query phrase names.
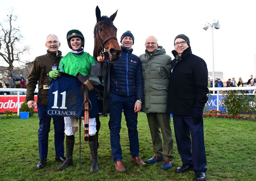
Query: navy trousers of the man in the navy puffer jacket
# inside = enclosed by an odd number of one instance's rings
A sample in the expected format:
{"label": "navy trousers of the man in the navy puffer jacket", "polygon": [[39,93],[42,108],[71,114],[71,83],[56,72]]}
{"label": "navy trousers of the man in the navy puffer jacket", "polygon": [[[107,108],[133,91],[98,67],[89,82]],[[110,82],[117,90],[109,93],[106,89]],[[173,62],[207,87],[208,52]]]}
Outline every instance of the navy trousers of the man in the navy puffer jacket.
{"label": "navy trousers of the man in the navy puffer jacket", "polygon": [[125,121],[128,128],[131,155],[134,158],[139,157],[139,137],[137,131],[138,113],[134,112],[135,102],[135,96],[122,97],[114,93],[110,94],[110,145],[114,162],[121,161],[123,159],[120,144],[122,110],[124,110]]}

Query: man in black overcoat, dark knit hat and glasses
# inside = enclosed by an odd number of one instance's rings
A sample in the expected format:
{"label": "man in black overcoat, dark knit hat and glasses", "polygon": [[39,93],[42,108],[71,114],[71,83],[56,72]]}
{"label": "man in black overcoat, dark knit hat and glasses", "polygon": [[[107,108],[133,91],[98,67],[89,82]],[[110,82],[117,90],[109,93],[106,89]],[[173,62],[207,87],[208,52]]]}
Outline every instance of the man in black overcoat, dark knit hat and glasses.
{"label": "man in black overcoat, dark knit hat and glasses", "polygon": [[174,48],[166,110],[173,114],[177,148],[183,163],[176,172],[193,170],[197,181],[205,181],[203,108],[209,92],[207,65],[192,54],[186,35],[176,36]]}

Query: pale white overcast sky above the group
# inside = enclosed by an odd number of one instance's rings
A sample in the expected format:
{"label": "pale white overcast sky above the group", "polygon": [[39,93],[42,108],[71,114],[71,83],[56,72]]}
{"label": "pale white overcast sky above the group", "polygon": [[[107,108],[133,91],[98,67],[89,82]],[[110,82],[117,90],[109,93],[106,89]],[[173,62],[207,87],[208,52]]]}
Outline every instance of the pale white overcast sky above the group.
{"label": "pale white overcast sky above the group", "polygon": [[82,31],[84,51],[93,55],[97,5],[101,15],[111,16],[118,10],[113,22],[118,29],[117,39],[120,41],[125,31],[131,31],[135,38],[133,53],[137,56],[144,53],[146,38],[154,35],[173,59],[174,38],[185,34],[192,53],[206,61],[208,71],[213,68],[212,29],[205,31],[203,27],[217,19],[221,27],[213,33],[214,71],[223,72],[223,81],[234,77],[238,82],[241,77],[247,82],[250,75],[256,77],[256,11],[251,0],[5,0],[1,1],[0,22],[11,9],[18,16],[15,27],[19,26],[24,38],[17,46],[30,46],[29,53],[21,57],[23,61],[33,61],[46,53],[48,34],[58,36],[64,56],[70,51],[66,34],[71,29]]}

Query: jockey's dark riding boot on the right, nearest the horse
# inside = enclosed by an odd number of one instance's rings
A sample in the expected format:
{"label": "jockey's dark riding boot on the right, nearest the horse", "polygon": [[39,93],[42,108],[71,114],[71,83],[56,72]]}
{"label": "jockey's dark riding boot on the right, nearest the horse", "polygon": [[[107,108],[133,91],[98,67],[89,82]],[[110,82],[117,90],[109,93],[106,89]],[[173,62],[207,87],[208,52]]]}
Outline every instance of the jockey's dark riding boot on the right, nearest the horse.
{"label": "jockey's dark riding boot on the right, nearest the horse", "polygon": [[91,173],[99,171],[98,167],[98,147],[97,147],[97,136],[89,136],[89,146],[91,151]]}

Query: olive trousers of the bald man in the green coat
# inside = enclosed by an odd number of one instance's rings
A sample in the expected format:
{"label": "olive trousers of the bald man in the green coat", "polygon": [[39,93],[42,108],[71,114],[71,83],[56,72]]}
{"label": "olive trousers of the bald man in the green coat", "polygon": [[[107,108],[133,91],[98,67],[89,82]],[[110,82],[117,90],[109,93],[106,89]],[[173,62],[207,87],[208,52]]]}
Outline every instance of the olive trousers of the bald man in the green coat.
{"label": "olive trousers of the bald man in the green coat", "polygon": [[173,137],[170,114],[147,113],[147,120],[152,137],[153,151],[158,157],[173,160]]}

